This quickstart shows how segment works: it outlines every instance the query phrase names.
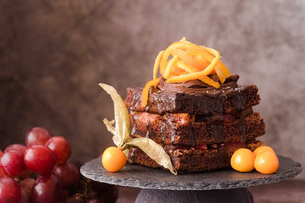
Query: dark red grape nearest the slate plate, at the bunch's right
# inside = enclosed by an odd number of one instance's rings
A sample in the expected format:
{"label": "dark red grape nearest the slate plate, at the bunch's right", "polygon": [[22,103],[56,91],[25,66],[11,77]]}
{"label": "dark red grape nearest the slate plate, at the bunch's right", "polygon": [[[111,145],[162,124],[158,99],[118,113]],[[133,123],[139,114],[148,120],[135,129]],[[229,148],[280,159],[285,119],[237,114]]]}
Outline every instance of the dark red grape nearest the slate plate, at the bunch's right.
{"label": "dark red grape nearest the slate plate, at the bunch's right", "polygon": [[75,186],[79,180],[79,170],[70,161],[67,161],[64,164],[55,165],[53,172],[60,178],[63,189],[69,189],[72,186]]}

